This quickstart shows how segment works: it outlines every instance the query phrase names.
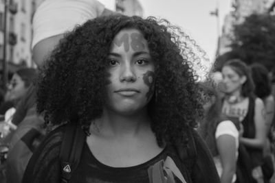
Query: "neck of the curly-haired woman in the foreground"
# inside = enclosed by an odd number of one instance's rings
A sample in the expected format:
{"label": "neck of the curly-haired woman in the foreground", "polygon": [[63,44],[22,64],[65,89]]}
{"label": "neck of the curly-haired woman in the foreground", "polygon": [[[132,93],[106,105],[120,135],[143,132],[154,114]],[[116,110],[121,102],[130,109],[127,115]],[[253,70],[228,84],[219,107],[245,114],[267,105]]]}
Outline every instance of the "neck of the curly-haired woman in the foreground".
{"label": "neck of the curly-haired woman in the foreground", "polygon": [[122,115],[108,109],[96,120],[100,134],[108,136],[136,136],[140,132],[151,131],[151,120],[145,110],[135,114]]}

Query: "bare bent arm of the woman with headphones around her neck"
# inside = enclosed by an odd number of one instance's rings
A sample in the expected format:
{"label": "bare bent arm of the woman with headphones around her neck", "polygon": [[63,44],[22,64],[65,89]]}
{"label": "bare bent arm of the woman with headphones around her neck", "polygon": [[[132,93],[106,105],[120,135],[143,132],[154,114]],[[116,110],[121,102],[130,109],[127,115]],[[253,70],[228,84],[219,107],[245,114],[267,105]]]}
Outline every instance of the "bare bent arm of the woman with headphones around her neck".
{"label": "bare bent arm of the woman with headphones around her neck", "polygon": [[240,142],[250,147],[263,148],[266,140],[265,134],[267,127],[265,125],[265,106],[259,98],[255,100],[254,123],[256,131],[255,138],[241,137]]}

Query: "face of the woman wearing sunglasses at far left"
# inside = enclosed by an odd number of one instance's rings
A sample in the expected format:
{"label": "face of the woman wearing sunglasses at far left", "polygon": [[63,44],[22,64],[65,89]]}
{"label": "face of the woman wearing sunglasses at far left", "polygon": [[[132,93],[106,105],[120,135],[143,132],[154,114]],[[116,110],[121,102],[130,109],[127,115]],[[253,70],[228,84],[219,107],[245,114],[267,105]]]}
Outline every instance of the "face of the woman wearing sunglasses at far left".
{"label": "face of the woman wearing sunglasses at far left", "polygon": [[25,87],[25,82],[22,78],[17,73],[14,73],[8,89],[10,90],[10,99],[14,100],[21,99],[27,92],[28,87]]}

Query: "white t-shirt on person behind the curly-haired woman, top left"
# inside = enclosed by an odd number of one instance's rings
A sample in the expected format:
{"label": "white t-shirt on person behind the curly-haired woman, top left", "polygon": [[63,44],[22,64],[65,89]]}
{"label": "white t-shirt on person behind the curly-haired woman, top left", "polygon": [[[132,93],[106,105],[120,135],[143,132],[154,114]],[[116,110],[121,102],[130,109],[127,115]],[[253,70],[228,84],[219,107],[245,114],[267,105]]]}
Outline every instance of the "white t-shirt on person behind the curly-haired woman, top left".
{"label": "white t-shirt on person behind the curly-haired woman, top left", "polygon": [[72,31],[89,19],[100,16],[104,5],[97,0],[45,0],[34,19],[32,49],[40,40]]}

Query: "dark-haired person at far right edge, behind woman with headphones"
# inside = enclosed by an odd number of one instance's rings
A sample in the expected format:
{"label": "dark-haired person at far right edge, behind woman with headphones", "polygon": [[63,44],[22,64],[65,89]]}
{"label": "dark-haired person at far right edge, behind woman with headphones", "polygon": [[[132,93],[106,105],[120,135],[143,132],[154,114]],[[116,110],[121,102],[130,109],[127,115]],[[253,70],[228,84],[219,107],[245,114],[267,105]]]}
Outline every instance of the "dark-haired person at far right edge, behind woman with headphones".
{"label": "dark-haired person at far right edge, behind woman with headphones", "polygon": [[270,141],[272,141],[271,125],[274,120],[274,96],[272,95],[272,86],[268,70],[263,64],[254,63],[250,65],[252,71],[252,79],[255,84],[255,95],[263,100],[266,110],[266,128],[267,128],[267,141],[263,149],[264,164],[261,166],[264,182],[269,182],[274,173],[274,165],[272,164],[272,149]]}

